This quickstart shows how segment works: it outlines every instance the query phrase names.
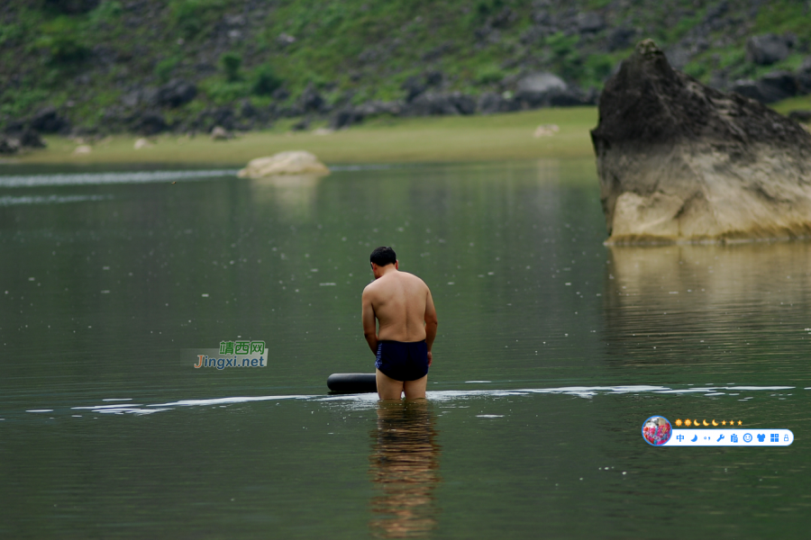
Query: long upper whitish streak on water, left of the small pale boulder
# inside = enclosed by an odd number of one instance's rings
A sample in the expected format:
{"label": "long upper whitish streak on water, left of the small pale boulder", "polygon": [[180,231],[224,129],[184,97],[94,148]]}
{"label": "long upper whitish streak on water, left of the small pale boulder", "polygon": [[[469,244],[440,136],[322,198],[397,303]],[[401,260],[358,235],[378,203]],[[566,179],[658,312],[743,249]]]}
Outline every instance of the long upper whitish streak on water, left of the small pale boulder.
{"label": "long upper whitish streak on water, left of the small pale boulder", "polygon": [[129,173],[83,173],[74,175],[0,175],[2,187],[40,185],[150,184],[154,182],[205,180],[236,175],[236,169],[207,171],[141,171]]}

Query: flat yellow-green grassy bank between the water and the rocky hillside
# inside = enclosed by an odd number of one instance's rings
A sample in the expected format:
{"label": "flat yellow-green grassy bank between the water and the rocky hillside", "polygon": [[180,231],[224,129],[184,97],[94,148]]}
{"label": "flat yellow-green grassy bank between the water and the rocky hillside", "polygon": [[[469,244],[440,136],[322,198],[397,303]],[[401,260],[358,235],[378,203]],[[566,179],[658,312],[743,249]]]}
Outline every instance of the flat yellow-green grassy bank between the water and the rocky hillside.
{"label": "flat yellow-green grassy bank between the water and the rocky hillside", "polygon": [[[560,131],[534,137],[541,124]],[[114,136],[97,141],[86,156],[74,156],[77,143],[48,139],[47,150],[14,159],[39,164],[183,164],[244,166],[254,157],[283,150],[305,149],[327,164],[496,161],[592,157],[588,130],[597,124],[595,107],[542,109],[490,116],[412,118],[372,121],[351,130],[317,132],[251,132],[237,139],[214,141],[206,136],[162,135],[150,148],[134,148],[135,137]]]}

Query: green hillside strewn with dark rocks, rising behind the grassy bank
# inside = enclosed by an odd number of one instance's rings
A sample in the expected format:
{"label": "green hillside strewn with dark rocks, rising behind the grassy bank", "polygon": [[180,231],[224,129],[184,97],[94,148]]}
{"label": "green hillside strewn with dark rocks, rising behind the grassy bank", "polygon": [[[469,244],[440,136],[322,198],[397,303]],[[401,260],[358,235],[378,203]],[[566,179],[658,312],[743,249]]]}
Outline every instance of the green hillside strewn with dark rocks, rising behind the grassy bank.
{"label": "green hillside strewn with dark rocks, rising behind the grassy bank", "polygon": [[811,92],[808,1],[5,0],[0,125],[340,128],[596,103],[642,38],[716,88]]}

